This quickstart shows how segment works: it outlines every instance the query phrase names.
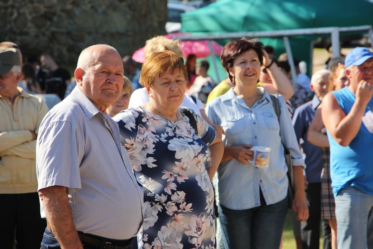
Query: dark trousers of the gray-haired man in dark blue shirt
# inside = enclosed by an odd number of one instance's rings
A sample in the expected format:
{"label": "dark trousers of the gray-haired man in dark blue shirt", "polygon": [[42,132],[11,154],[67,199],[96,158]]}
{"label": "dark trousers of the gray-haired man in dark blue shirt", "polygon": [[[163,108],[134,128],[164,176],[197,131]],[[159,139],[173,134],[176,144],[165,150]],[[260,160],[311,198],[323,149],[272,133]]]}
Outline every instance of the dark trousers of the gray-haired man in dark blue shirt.
{"label": "dark trousers of the gray-haired man in dark blue shirt", "polygon": [[321,219],[321,183],[309,183],[306,189],[309,217],[302,222],[302,248],[319,249]]}

